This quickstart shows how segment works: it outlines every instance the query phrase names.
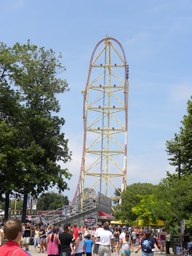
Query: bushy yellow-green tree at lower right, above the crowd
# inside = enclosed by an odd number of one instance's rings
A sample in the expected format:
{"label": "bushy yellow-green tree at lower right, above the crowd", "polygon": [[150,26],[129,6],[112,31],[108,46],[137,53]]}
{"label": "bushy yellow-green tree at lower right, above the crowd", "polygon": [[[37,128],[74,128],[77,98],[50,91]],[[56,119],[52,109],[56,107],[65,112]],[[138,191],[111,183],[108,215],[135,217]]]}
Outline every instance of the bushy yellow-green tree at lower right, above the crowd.
{"label": "bushy yellow-green tree at lower right, above the crowd", "polygon": [[139,196],[140,202],[132,207],[136,220],[156,222],[163,220],[164,225],[179,225],[180,220],[191,216],[188,207],[191,205],[192,196],[191,175],[182,176],[180,180],[166,177],[161,180],[152,195]]}

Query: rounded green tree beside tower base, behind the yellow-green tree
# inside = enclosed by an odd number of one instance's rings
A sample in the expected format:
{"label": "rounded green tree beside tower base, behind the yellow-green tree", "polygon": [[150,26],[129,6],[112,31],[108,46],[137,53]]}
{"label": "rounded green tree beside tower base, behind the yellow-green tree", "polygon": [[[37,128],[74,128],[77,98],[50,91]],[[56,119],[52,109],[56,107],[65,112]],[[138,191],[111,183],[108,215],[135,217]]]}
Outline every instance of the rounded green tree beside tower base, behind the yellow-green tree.
{"label": "rounded green tree beside tower base, behind the yellow-green tree", "polygon": [[150,183],[133,183],[127,186],[122,193],[122,204],[115,207],[116,220],[129,222],[130,225],[136,221],[136,214],[132,212],[132,207],[140,203],[138,195],[152,195],[152,191],[156,186]]}

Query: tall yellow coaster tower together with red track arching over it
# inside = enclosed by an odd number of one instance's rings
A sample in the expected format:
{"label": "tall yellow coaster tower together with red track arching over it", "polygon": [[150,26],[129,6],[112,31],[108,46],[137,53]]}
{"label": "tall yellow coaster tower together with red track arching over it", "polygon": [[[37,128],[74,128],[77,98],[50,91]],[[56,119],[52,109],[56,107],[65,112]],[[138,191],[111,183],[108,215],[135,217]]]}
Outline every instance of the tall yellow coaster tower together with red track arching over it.
{"label": "tall yellow coaster tower together with red track arching over it", "polygon": [[129,66],[120,42],[111,37],[100,40],[93,50],[82,91],[83,156],[72,200],[73,203],[79,193],[81,207],[83,199],[89,198],[95,188],[106,196],[109,186],[119,193],[126,189],[128,77]]}

